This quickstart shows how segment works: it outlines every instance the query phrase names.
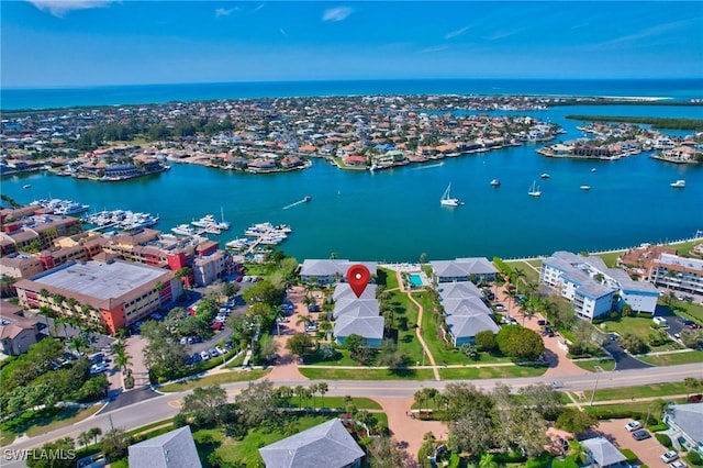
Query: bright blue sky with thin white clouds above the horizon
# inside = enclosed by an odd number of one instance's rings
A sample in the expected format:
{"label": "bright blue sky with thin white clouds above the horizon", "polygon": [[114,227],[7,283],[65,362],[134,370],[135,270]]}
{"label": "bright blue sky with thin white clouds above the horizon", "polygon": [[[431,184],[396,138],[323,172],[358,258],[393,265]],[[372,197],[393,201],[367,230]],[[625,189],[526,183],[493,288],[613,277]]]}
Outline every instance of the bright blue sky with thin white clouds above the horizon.
{"label": "bright blue sky with thin white clouds above the horizon", "polygon": [[2,1],[2,87],[703,77],[703,8],[576,1]]}

